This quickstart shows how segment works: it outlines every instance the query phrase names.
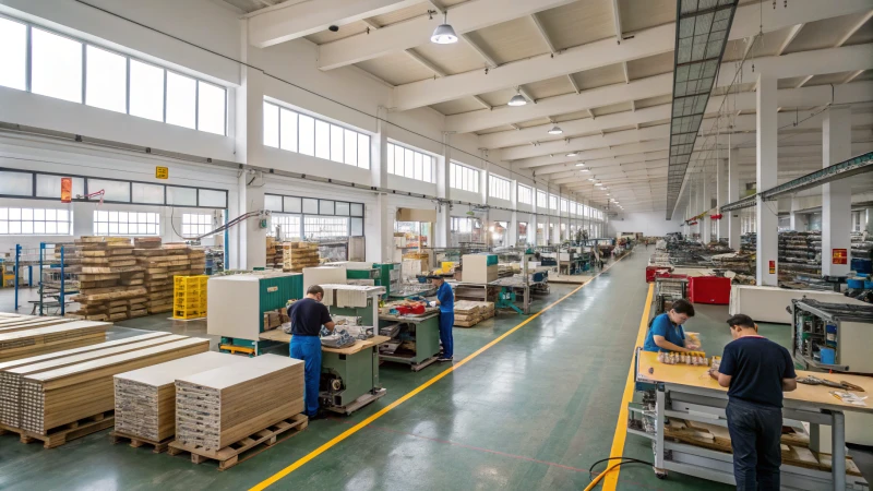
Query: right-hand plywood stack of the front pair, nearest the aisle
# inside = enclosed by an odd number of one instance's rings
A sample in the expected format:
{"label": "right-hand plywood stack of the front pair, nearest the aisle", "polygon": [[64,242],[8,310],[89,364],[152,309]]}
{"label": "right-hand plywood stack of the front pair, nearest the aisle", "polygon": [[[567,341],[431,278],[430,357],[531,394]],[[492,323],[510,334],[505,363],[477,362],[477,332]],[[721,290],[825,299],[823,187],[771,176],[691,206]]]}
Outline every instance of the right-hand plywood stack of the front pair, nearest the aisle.
{"label": "right-hand plywood stack of the front pair, nearest the aisle", "polygon": [[303,410],[303,362],[263,355],[176,381],[176,441],[217,452]]}

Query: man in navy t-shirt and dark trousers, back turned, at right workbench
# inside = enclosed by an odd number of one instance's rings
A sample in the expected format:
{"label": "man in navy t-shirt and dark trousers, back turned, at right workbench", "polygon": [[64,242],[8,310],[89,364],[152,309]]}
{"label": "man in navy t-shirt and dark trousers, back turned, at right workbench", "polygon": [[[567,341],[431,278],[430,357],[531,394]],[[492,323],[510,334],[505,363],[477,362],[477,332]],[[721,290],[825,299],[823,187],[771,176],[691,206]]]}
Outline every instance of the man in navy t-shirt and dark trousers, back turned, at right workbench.
{"label": "man in navy t-shirt and dark trousers, back turned, at right workbench", "polygon": [[718,371],[709,374],[728,388],[728,431],[737,489],[778,490],[782,465],[782,392],[798,387],[787,349],[757,334],[749,315],[728,319],[732,342]]}

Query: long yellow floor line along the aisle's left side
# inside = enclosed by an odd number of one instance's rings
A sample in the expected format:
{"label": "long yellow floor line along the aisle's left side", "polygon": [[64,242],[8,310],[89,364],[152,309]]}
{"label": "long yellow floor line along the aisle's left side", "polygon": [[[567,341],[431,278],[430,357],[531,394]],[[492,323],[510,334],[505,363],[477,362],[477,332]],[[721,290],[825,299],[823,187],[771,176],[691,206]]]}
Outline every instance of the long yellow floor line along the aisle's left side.
{"label": "long yellow floor line along the aisle's left side", "polygon": [[[608,265],[607,267],[605,267],[603,271],[598,273],[594,278],[591,278],[591,280],[597,278],[601,274],[606,273],[607,271],[609,271],[610,267],[614,266],[615,264],[618,264],[619,261],[623,260],[624,258],[627,258],[629,255],[630,254],[623,255],[622,258],[620,258],[614,263],[612,263],[612,264]],[[527,325],[527,323],[529,323],[534,319],[537,319],[542,312],[546,312],[547,310],[551,309],[552,307],[554,307],[554,306],[561,303],[562,301],[566,300],[567,298],[573,296],[573,294],[575,294],[576,291],[581,290],[582,288],[584,288],[586,285],[588,285],[591,282],[588,282],[588,283],[586,283],[584,285],[579,285],[578,287],[576,287],[570,294],[566,294],[565,296],[563,296],[560,299],[555,300],[554,302],[548,304],[547,307],[545,307],[539,312],[530,315],[529,318],[527,318],[526,320],[524,320],[523,322],[517,324],[515,327],[513,327],[510,331],[506,331],[505,333],[501,334],[500,336],[494,338],[492,342],[490,342],[487,345],[482,346],[481,348],[477,349],[476,351],[474,351],[473,354],[470,354],[469,356],[467,356],[463,360],[458,361],[457,363],[454,363],[452,367],[449,367],[447,369],[443,370],[442,372],[440,372],[439,374],[436,374],[435,376],[433,376],[429,381],[427,381],[423,384],[419,385],[418,387],[411,390],[410,392],[404,394],[397,400],[388,404],[387,406],[385,406],[384,408],[380,409],[378,412],[375,412],[372,416],[368,417],[363,421],[359,422],[358,424],[355,424],[354,427],[349,428],[348,430],[346,430],[346,431],[339,433],[338,435],[334,436],[333,440],[324,443],[323,445],[321,445],[320,447],[318,447],[314,451],[310,452],[309,454],[304,455],[303,457],[301,457],[300,459],[298,459],[294,464],[289,465],[288,467],[279,470],[278,472],[274,474],[273,476],[271,476],[271,477],[264,479],[263,481],[259,482],[258,484],[253,486],[250,489],[250,491],[264,490],[264,489],[268,488],[270,486],[276,483],[279,479],[288,476],[289,474],[291,474],[295,470],[299,469],[300,467],[304,466],[307,463],[309,463],[313,458],[315,458],[319,455],[323,454],[324,452],[328,451],[332,446],[336,445],[337,443],[342,442],[343,440],[346,440],[347,438],[351,436],[352,434],[355,434],[358,431],[360,431],[363,428],[366,428],[371,422],[373,422],[376,419],[385,416],[388,411],[391,411],[395,407],[397,407],[397,406],[402,405],[403,403],[411,399],[412,397],[415,397],[421,391],[423,391],[423,390],[430,387],[431,385],[435,384],[436,382],[442,380],[445,375],[447,375],[447,374],[452,373],[453,371],[459,369],[461,367],[467,364],[467,362],[469,362],[474,358],[478,357],[479,355],[483,354],[485,351],[487,351],[488,349],[490,349],[492,346],[497,345],[498,343],[502,342],[503,339],[509,337],[512,333],[521,330],[522,327]],[[649,300],[651,300],[651,290],[649,290]]]}

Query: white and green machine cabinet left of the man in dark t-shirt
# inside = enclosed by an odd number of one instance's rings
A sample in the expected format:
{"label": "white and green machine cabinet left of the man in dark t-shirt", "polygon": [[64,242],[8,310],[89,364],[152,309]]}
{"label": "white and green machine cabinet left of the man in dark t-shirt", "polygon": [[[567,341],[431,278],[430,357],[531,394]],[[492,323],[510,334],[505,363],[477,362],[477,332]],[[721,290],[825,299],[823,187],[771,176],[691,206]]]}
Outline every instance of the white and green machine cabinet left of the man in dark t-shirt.
{"label": "white and green machine cabinet left of the man in dark t-shirt", "polygon": [[303,275],[253,272],[212,276],[206,288],[206,332],[222,336],[219,350],[258,356],[264,312],[303,298]]}

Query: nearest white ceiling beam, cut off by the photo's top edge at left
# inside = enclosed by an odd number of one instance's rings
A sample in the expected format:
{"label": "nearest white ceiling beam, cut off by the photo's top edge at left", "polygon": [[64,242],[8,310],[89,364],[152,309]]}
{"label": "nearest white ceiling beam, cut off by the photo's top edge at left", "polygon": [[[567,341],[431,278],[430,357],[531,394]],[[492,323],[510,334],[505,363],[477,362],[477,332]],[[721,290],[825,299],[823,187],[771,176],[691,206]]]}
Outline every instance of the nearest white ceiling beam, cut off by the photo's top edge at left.
{"label": "nearest white ceiling beam, cut off by the photo's top edge at left", "polygon": [[249,43],[266,48],[416,3],[416,0],[320,0],[277,4],[248,15]]}

